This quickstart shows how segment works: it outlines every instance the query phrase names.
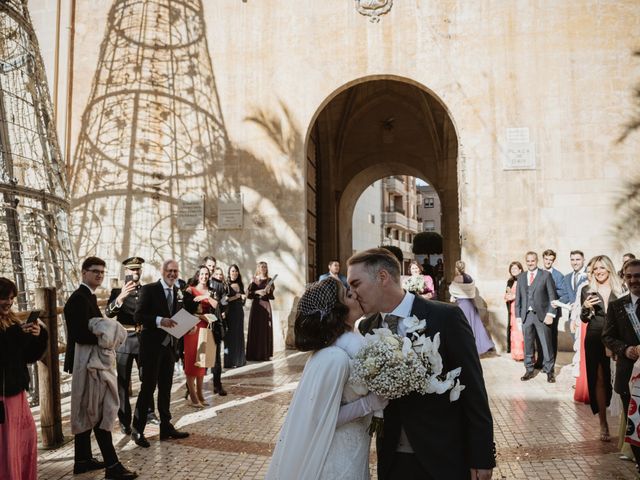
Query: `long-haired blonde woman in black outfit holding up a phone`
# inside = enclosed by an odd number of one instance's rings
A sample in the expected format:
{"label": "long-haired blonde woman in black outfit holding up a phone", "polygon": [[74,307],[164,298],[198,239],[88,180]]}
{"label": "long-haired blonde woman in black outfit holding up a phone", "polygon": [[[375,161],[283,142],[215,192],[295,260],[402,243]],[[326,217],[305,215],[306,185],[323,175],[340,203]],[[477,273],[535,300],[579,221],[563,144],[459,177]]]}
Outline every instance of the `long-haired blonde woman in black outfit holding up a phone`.
{"label": "long-haired blonde woman in black outfit holding up a phone", "polygon": [[585,364],[589,385],[589,403],[600,420],[600,440],[608,442],[607,406],[611,401],[611,361],[602,343],[602,329],[609,303],[622,295],[622,281],[616,275],[611,259],[595,257],[589,286],[582,289],[580,319],[587,324],[584,337]]}

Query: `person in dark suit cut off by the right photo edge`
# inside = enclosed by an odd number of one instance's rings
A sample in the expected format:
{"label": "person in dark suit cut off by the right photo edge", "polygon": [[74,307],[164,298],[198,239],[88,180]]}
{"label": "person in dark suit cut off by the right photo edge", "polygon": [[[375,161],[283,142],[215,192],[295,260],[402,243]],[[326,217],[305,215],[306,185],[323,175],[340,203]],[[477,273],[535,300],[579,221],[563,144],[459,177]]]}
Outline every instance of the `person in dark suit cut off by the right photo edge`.
{"label": "person in dark suit cut off by the right photo edge", "polygon": [[[628,260],[622,269],[622,278],[629,288],[629,294],[609,304],[607,320],[602,330],[602,343],[616,355],[613,389],[620,395],[626,415],[631,400],[629,380],[633,364],[640,354],[640,260]],[[640,462],[640,447],[631,445],[631,449],[636,462]]]}

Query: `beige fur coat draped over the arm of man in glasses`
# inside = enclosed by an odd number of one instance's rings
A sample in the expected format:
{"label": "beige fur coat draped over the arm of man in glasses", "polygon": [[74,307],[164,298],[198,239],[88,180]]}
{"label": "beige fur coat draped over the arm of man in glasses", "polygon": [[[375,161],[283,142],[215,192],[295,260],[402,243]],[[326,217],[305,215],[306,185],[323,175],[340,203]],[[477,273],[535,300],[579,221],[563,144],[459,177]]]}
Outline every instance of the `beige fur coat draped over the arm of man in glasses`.
{"label": "beige fur coat draped over the arm of man in glasses", "polygon": [[[116,352],[127,338],[127,331],[110,318],[92,318],[89,330],[98,337],[97,345],[76,343],[71,379],[71,433],[98,426],[111,431],[118,418],[118,380]],[[98,425],[100,422],[100,425]]]}

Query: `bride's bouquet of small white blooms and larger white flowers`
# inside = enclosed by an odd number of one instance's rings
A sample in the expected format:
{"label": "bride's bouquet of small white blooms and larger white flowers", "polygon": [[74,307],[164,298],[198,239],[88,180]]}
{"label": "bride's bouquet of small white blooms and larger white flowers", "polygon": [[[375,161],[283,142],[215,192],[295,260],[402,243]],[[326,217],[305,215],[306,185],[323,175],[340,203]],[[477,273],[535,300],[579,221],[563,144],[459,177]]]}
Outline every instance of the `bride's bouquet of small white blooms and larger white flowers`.
{"label": "bride's bouquet of small white blooms and larger white flowers", "polygon": [[[405,318],[403,323],[410,336],[403,338],[387,328],[374,329],[372,334],[365,335],[365,345],[352,361],[350,382],[364,385],[368,391],[390,400],[412,392],[442,395],[447,391],[449,401],[458,400],[464,390],[458,379],[461,368],[443,375],[440,333],[433,338],[420,333],[426,321],[415,316]],[[370,432],[379,429],[374,416]]]}

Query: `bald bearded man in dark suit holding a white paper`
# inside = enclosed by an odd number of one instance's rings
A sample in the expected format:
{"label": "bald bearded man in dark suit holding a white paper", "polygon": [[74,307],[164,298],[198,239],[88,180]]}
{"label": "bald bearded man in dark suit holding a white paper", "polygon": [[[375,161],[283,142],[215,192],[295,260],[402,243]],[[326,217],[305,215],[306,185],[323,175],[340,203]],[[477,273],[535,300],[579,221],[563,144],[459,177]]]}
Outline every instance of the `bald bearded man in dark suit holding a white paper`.
{"label": "bald bearded man in dark suit holding a white paper", "polygon": [[142,386],[136,402],[131,438],[137,445],[144,448],[149,447],[149,442],[144,436],[144,428],[147,423],[148,406],[151,404],[156,385],[158,386],[160,440],[189,436],[188,433],[175,429],[171,424],[169,411],[173,368],[178,360],[176,345],[179,338],[179,335],[176,338],[169,332],[173,328],[176,329],[176,333],[183,331],[185,327],[183,322],[188,322],[188,318],[179,320],[180,316],[186,316],[186,312],[181,312],[176,319],[172,318],[183,308],[184,303],[182,292],[175,284],[178,274],[178,262],[165,260],[162,264],[162,278],[140,288],[140,297],[134,314],[136,323],[142,325],[140,332]]}

